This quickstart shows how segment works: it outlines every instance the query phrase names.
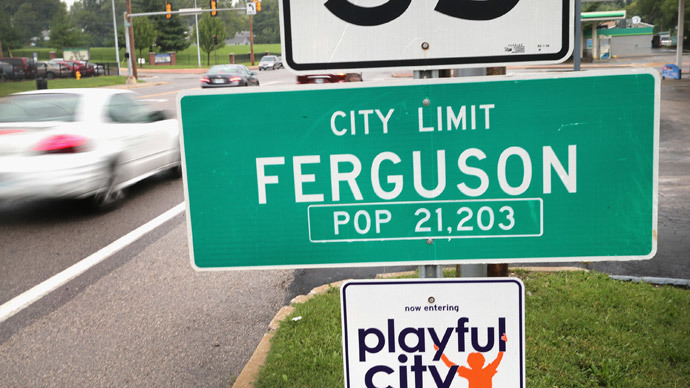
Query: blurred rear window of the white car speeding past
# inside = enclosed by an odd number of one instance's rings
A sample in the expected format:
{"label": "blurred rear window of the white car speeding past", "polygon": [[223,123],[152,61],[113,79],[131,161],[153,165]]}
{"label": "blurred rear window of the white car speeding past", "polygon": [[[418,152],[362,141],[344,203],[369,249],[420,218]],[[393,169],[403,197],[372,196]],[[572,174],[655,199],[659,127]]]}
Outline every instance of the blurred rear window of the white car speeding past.
{"label": "blurred rear window of the white car speeding past", "polygon": [[25,94],[0,98],[0,122],[74,121],[76,94]]}

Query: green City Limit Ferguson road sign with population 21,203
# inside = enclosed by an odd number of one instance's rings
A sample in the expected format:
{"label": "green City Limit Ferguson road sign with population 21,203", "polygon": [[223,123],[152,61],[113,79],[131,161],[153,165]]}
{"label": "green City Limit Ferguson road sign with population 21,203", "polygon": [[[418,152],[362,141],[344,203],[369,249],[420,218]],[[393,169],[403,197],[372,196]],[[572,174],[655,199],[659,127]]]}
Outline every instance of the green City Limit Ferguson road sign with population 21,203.
{"label": "green City Limit Ferguson road sign with population 21,203", "polygon": [[651,258],[659,93],[626,70],[181,95],[192,264]]}

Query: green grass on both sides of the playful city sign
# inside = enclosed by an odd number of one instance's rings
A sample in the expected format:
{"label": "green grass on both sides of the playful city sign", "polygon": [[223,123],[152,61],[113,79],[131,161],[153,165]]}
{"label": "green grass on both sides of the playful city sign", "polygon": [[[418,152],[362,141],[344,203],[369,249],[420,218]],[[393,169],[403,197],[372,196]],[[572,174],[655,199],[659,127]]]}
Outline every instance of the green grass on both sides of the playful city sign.
{"label": "green grass on both sides of the playful city sign", "polygon": [[[512,275],[526,290],[528,387],[688,387],[689,290],[594,272]],[[340,324],[338,289],[295,305],[256,387],[342,387]]]}

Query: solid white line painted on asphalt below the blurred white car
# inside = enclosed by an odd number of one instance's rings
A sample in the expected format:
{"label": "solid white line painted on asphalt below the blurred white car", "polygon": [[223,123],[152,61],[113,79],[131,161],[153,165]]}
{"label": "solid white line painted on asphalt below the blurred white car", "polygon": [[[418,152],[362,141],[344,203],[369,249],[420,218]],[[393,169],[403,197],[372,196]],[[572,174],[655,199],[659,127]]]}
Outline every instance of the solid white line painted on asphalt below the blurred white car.
{"label": "solid white line painted on asphalt below the blurred white car", "polygon": [[138,227],[137,229],[134,229],[133,231],[113,241],[110,245],[106,246],[100,251],[92,254],[91,256],[65,269],[64,271],[58,273],[50,279],[45,280],[43,283],[34,286],[32,289],[4,303],[2,306],[0,306],[0,323],[4,322],[5,320],[10,318],[14,314],[20,312],[21,310],[27,308],[32,303],[38,301],[42,297],[53,292],[65,283],[69,282],[70,280],[86,272],[89,268],[112,256],[116,252],[125,248],[127,245],[138,240],[146,233],[156,229],[157,227],[164,224],[166,221],[184,212],[184,210],[184,202],[176,205],[172,209],[152,219],[146,224]]}

